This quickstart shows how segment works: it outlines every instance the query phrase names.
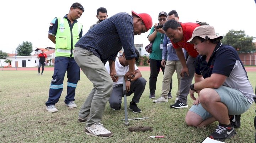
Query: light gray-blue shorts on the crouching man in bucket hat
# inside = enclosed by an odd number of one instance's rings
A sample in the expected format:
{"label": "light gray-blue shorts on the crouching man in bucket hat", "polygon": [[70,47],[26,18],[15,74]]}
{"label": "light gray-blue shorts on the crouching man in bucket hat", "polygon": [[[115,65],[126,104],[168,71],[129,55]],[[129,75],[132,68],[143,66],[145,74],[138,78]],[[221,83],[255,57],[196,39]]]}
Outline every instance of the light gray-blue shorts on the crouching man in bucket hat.
{"label": "light gray-blue shorts on the crouching man in bucket hat", "polygon": [[[220,101],[228,107],[229,115],[240,115],[251,107],[251,103],[239,90],[227,86],[214,90],[219,94]],[[189,110],[201,116],[203,120],[212,117],[201,104],[193,105]]]}

